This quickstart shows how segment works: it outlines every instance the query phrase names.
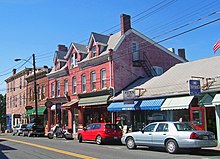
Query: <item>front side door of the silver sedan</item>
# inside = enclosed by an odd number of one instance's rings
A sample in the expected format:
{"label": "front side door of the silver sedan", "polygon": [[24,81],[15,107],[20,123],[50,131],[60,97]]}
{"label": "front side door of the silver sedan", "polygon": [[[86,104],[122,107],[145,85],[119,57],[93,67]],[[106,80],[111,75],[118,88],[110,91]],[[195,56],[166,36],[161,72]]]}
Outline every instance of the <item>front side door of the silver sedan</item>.
{"label": "front side door of the silver sedan", "polygon": [[152,132],[156,125],[157,123],[149,124],[140,133],[136,134],[136,143],[138,145],[150,146],[152,144]]}

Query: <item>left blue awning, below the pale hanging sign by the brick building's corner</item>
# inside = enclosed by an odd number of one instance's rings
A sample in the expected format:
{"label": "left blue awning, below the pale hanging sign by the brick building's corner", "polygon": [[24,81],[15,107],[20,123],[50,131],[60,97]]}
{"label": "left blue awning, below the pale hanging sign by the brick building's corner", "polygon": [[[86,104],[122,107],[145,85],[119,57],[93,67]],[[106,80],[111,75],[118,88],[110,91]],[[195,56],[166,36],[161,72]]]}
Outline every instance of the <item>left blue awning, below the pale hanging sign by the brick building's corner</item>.
{"label": "left blue awning, below the pale hanging sign by the brick building's corner", "polygon": [[141,101],[134,101],[134,104],[124,104],[124,102],[111,103],[108,111],[122,111],[122,110],[140,110]]}

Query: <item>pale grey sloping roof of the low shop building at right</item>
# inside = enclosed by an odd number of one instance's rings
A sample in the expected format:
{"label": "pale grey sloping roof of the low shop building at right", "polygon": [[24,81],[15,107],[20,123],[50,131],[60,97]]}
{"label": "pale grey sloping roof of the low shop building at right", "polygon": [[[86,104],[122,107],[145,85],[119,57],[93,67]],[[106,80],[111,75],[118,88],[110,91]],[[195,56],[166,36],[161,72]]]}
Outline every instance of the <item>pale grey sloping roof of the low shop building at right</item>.
{"label": "pale grey sloping roof of the low shop building at right", "polygon": [[200,80],[203,85],[202,78],[214,78],[215,82],[209,89],[202,92],[220,91],[220,69],[218,68],[220,68],[220,56],[176,64],[161,76],[140,85],[139,87],[147,90],[140,98],[188,94],[190,79]]}

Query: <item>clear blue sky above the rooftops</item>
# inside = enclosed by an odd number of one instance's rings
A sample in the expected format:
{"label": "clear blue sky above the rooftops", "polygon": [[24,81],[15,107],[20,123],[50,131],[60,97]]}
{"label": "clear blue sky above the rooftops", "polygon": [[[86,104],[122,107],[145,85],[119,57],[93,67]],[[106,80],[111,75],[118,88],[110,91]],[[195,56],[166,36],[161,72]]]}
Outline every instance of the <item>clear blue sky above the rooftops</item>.
{"label": "clear blue sky above the rooftops", "polygon": [[[218,13],[216,13],[218,12]],[[52,66],[58,44],[87,44],[91,32],[119,31],[120,14],[131,15],[132,27],[158,42],[220,18],[218,0],[0,0],[0,93],[13,68],[32,67],[14,62],[36,54],[37,66]],[[198,20],[201,19],[201,20]],[[114,27],[116,26],[116,27]],[[185,26],[185,27],[183,27]],[[180,29],[177,29],[180,28]],[[185,48],[189,61],[220,54],[220,21],[160,43]],[[175,30],[175,31],[171,31]]]}

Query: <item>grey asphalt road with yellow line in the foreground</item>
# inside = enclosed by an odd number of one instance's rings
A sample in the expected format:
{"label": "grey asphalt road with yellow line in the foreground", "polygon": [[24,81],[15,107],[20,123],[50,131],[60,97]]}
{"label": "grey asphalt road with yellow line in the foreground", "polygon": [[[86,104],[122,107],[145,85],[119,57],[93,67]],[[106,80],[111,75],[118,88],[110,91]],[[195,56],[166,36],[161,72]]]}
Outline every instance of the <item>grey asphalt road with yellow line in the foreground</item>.
{"label": "grey asphalt road with yellow line in the foreground", "polygon": [[125,145],[96,145],[93,142],[46,137],[22,137],[0,134],[0,159],[219,159],[220,151],[202,149],[168,154],[163,149],[139,147],[128,150]]}

